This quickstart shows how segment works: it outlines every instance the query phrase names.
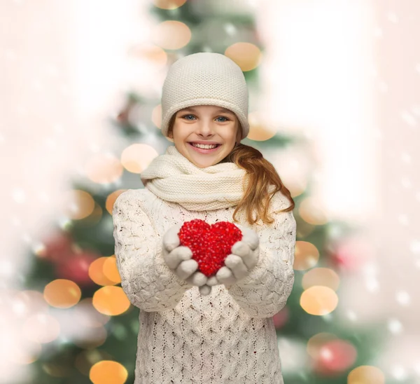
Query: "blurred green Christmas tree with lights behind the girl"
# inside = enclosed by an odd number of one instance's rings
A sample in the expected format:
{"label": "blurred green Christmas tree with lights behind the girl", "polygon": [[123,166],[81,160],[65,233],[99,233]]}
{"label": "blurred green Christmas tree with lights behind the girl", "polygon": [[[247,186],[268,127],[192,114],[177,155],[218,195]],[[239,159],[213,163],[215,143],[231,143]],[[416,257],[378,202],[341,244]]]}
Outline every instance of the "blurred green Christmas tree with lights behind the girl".
{"label": "blurred green Christmas tree with lights behind the girl", "polygon": [[[222,10],[212,1],[156,0],[151,12],[173,39],[161,39],[155,53],[165,53],[168,65],[195,52],[228,55],[244,70],[252,107],[258,97],[261,42],[252,12],[228,4]],[[153,143],[158,147],[156,153],[162,153],[171,143],[156,127],[158,104],[159,100],[131,92],[113,125],[127,142],[142,143],[142,148]],[[148,117],[139,120],[140,110],[151,109]],[[300,142],[297,137],[267,132],[253,125],[242,142],[267,156]],[[36,357],[29,359],[34,366],[31,383],[118,384],[134,380],[139,309],[130,305],[120,287],[111,212],[120,193],[142,188],[141,167],[124,162],[123,156],[121,163],[124,172],[120,163],[109,160],[113,169],[109,172],[121,172],[124,189],[115,190],[100,175],[96,175],[96,185],[90,182],[94,177],[75,185],[76,204],[68,212],[69,220],[57,226],[31,254],[33,266],[20,299],[34,308],[43,308],[45,302],[49,306],[48,315],[31,317],[27,326],[34,345],[42,345],[35,348]],[[353,229],[343,223],[309,223],[300,217],[297,208],[307,193],[294,197],[295,286],[286,307],[274,317],[284,379],[288,384],[384,383],[384,375],[374,367],[382,342],[381,327],[356,330],[335,317],[339,273],[351,267],[352,255],[345,252],[339,236],[332,243],[329,233],[334,228],[345,238]]]}

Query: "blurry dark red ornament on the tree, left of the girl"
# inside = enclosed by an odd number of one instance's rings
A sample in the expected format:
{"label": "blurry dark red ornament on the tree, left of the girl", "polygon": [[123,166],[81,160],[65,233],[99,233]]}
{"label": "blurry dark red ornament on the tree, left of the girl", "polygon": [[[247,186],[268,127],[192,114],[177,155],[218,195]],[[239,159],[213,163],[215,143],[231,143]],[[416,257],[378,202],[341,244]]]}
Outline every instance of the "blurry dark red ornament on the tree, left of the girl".
{"label": "blurry dark red ornament on the tree, left of the girl", "polygon": [[57,264],[57,276],[62,279],[71,280],[81,286],[92,285],[92,279],[89,276],[90,264],[100,257],[94,252],[82,251],[73,253],[62,263]]}

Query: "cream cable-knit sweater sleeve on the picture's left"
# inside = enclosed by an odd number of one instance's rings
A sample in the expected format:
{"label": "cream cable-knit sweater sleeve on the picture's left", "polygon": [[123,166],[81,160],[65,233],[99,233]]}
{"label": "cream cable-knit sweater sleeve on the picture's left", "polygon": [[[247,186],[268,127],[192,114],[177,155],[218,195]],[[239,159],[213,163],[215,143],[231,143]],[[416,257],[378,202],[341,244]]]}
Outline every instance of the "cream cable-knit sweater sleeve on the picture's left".
{"label": "cream cable-knit sweater sleeve on the picture's left", "polygon": [[113,237],[121,287],[134,306],[147,312],[169,310],[193,287],[167,267],[160,234],[141,210],[134,189],[121,193],[113,205]]}

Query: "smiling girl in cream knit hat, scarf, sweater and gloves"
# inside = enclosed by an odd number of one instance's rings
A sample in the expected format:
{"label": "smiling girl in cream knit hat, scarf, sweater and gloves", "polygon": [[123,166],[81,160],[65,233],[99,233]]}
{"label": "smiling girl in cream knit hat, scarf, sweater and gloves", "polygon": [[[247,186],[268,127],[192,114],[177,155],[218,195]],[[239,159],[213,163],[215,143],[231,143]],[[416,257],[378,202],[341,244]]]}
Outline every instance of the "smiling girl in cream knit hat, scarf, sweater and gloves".
{"label": "smiling girl in cream knit hat, scarf, sweater and gloves", "polygon": [[[175,145],[113,207],[121,285],[140,308],[135,384],[283,383],[272,316],[293,287],[295,204],[272,164],[240,144],[247,115],[244,74],[225,55],[169,68],[162,134]],[[211,277],[180,245],[193,219],[243,235]]]}

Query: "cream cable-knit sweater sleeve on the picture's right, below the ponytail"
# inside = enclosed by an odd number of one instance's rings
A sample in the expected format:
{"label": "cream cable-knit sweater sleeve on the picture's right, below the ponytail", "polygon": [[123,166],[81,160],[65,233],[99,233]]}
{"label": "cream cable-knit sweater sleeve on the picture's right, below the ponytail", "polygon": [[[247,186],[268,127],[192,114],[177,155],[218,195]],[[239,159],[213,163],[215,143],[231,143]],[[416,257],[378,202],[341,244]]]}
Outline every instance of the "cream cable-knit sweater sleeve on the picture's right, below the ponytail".
{"label": "cream cable-knit sweater sleeve on the picture's right, below the ponytail", "polygon": [[[273,201],[274,200],[274,201]],[[284,195],[272,198],[274,211],[290,205]],[[296,221],[293,211],[272,213],[274,223],[260,233],[260,258],[251,273],[228,292],[251,317],[272,317],[286,305],[295,274]]]}

